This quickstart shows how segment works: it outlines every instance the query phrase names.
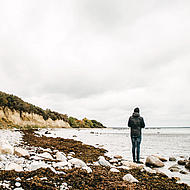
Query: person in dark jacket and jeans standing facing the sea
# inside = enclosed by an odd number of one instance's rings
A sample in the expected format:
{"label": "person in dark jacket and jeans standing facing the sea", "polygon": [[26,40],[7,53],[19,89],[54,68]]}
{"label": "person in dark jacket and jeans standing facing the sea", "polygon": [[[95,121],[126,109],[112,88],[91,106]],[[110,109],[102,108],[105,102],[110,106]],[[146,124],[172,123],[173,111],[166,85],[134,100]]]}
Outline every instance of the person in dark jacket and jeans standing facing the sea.
{"label": "person in dark jacket and jeans standing facing the sea", "polygon": [[140,162],[140,144],[141,144],[141,129],[145,127],[143,117],[140,117],[139,108],[134,109],[134,113],[129,117],[128,127],[131,131],[132,154],[133,162]]}

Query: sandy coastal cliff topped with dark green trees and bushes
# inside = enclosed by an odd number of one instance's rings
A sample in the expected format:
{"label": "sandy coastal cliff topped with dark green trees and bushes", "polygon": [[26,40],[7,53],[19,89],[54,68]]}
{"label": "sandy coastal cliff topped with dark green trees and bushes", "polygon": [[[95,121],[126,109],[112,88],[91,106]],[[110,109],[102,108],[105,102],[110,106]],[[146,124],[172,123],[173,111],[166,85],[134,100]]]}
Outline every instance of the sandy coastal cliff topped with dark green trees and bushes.
{"label": "sandy coastal cliff topped with dark green trees and bushes", "polygon": [[6,127],[54,127],[54,128],[104,128],[96,121],[78,120],[50,109],[23,101],[21,98],[0,91],[0,128]]}

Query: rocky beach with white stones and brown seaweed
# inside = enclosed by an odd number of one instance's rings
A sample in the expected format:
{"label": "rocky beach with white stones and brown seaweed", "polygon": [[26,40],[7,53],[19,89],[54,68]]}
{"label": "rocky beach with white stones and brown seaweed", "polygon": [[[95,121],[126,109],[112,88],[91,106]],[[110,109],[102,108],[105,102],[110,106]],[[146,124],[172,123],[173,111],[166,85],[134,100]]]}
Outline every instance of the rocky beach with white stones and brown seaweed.
{"label": "rocky beach with white stones and brown seaweed", "polygon": [[189,160],[150,155],[144,164],[136,164],[78,140],[48,137],[49,133],[1,130],[1,189],[190,189],[159,170],[166,162],[174,162],[170,170],[188,169]]}

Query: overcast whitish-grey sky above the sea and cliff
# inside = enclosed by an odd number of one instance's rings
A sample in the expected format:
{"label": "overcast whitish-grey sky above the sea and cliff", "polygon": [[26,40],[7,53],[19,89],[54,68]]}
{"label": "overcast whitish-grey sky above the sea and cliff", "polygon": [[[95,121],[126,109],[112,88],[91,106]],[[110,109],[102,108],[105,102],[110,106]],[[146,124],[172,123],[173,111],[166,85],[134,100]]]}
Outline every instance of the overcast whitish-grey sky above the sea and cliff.
{"label": "overcast whitish-grey sky above the sea and cliff", "polygon": [[107,127],[190,126],[189,0],[1,0],[0,91]]}

